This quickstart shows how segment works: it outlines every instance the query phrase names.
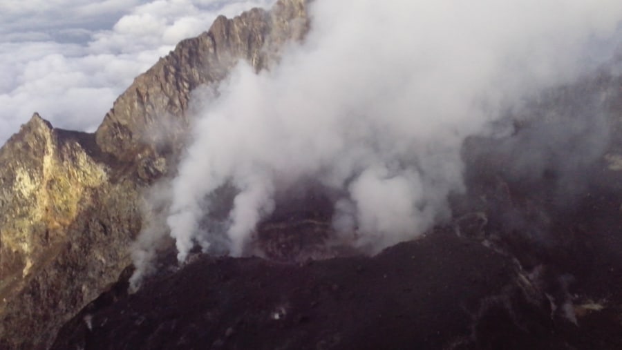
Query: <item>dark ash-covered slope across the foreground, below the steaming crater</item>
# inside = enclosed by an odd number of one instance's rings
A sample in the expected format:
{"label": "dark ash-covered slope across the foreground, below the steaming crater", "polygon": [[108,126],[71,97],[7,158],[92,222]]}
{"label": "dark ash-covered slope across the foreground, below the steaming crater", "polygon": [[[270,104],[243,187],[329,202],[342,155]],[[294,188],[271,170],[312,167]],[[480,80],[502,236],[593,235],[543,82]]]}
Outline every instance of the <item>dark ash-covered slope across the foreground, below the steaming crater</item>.
{"label": "dark ash-covered slope across the foreground, below the steaming crater", "polygon": [[525,256],[484,240],[496,233],[481,219],[465,215],[375,257],[282,264],[204,255],[133,295],[124,279],[68,322],[52,349],[622,346],[622,283],[609,270],[622,271],[619,260],[593,264],[592,242],[581,237],[571,239],[574,249],[549,253],[584,254],[576,262],[589,265],[591,278],[572,281],[555,259],[526,270],[519,262]]}

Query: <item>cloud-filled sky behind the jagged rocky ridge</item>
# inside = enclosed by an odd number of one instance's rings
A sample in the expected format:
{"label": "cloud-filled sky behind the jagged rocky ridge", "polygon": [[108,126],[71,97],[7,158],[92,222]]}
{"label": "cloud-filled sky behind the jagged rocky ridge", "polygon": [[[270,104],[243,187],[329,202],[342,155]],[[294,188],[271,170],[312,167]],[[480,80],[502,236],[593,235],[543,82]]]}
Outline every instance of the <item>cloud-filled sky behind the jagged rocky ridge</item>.
{"label": "cloud-filled sky behind the jagged rocky ridge", "polygon": [[32,113],[93,131],[134,77],[218,14],[274,0],[0,1],[0,144]]}

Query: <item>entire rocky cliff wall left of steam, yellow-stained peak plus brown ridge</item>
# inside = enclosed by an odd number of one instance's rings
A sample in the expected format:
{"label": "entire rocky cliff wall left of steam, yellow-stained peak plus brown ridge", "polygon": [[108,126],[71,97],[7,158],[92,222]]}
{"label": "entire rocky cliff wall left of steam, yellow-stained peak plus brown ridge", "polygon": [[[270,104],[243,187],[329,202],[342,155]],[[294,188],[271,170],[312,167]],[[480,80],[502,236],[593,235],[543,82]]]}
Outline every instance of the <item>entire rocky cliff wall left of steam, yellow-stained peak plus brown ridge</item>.
{"label": "entire rocky cliff wall left of steam, yellow-stained peak plus brown ridge", "polygon": [[305,1],[219,17],[135,79],[95,134],[35,114],[0,150],[0,348],[46,349],[131,264],[141,193],[175,169],[191,91],[256,70],[308,26]]}

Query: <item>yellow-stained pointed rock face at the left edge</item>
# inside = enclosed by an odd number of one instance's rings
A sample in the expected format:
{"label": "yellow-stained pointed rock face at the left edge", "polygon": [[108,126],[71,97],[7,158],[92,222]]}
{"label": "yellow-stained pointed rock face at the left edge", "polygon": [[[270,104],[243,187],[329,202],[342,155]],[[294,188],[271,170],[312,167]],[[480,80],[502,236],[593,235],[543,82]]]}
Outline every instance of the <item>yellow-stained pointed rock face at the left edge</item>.
{"label": "yellow-stained pointed rock face at the left edge", "polygon": [[113,180],[93,141],[35,114],[0,151],[3,349],[44,349],[130,263],[138,184]]}

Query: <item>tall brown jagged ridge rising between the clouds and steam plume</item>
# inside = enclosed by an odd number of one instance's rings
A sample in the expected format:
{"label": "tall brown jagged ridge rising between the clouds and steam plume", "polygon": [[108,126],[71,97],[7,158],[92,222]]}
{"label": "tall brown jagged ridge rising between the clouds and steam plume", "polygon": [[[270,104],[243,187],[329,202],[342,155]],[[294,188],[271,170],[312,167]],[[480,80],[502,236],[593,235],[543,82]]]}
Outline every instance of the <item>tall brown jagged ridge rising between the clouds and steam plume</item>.
{"label": "tall brown jagged ridge rising between the clouds and steam plume", "polygon": [[225,79],[239,60],[256,70],[278,60],[283,43],[302,39],[308,30],[306,3],[281,0],[270,12],[255,8],[233,19],[221,16],[207,32],[180,42],[115,101],[96,131],[99,147],[128,163],[178,154],[191,91]]}

